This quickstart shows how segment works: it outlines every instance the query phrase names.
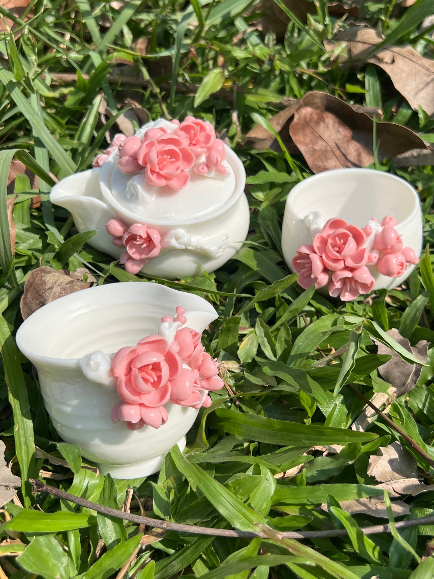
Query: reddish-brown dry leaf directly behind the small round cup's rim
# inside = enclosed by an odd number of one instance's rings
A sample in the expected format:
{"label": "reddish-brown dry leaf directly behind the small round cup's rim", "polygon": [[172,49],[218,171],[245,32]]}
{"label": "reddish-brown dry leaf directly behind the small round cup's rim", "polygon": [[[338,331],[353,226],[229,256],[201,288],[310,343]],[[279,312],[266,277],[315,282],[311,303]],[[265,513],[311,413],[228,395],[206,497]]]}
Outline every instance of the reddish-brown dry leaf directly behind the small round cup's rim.
{"label": "reddish-brown dry leaf directly behind the small round cup's rim", "polygon": [[372,153],[352,138],[352,130],[327,111],[300,108],[294,113],[289,134],[314,173],[374,162]]}

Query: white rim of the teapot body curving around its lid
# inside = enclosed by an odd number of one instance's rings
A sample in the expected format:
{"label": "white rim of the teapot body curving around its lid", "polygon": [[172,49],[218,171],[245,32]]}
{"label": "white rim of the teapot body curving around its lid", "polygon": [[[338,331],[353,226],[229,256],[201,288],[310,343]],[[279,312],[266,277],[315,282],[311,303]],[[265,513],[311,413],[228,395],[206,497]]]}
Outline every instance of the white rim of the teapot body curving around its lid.
{"label": "white rim of the teapot body curving around its lid", "polygon": [[[106,162],[101,167],[100,173],[100,189],[101,195],[104,199],[106,206],[114,211],[120,217],[123,217],[128,222],[138,223],[146,221],[146,225],[153,225],[155,227],[173,227],[173,226],[185,226],[185,225],[196,225],[197,223],[206,223],[208,221],[214,221],[221,215],[224,215],[227,211],[229,211],[232,207],[236,205],[236,203],[240,200],[241,195],[244,193],[245,189],[245,181],[246,181],[246,173],[244,164],[242,163],[240,157],[238,157],[237,153],[233,151],[228,145],[225,144],[225,151],[226,151],[226,160],[229,162],[230,166],[233,167],[235,175],[236,175],[236,188],[234,192],[230,196],[230,199],[226,201],[221,207],[219,207],[214,212],[210,212],[208,215],[202,215],[201,217],[197,218],[189,218],[189,219],[170,219],[167,221],[161,221],[159,219],[150,219],[140,217],[140,215],[136,215],[132,211],[126,210],[120,203],[115,199],[112,195],[111,189],[107,185],[107,181],[109,178],[109,174],[113,170],[113,161],[117,156],[117,149],[113,151],[111,155],[108,157]],[[110,171],[110,173],[109,173]],[[204,178],[205,179],[205,178]],[[206,181],[204,181],[206,184]]]}

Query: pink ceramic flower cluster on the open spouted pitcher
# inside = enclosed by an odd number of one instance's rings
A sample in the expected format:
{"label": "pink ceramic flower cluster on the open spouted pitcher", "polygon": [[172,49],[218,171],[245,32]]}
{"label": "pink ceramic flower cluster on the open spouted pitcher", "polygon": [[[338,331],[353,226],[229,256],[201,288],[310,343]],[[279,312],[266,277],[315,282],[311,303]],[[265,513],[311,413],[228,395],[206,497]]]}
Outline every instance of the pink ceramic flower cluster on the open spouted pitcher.
{"label": "pink ceramic flower cluster on the open spouted pitcher", "polygon": [[[127,428],[137,430],[149,424],[159,428],[167,422],[167,402],[201,408],[211,404],[206,391],[223,387],[218,363],[201,344],[201,334],[186,323],[185,309],[176,308],[178,329],[171,343],[160,335],[148,336],[135,347],[121,348],[113,358],[120,401],[113,406],[112,420],[124,420]],[[165,316],[162,323],[174,323]]]}

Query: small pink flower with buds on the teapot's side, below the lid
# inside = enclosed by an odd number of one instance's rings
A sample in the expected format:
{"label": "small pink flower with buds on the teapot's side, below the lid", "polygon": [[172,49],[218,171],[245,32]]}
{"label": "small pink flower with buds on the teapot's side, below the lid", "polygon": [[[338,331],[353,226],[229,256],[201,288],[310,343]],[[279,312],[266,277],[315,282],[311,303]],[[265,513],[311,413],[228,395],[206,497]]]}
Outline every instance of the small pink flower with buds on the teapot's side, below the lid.
{"label": "small pink flower with buds on the teapot's side, below the lid", "polygon": [[110,219],[105,228],[114,238],[115,245],[126,248],[127,251],[120,256],[120,263],[129,273],[138,273],[149,259],[160,253],[161,237],[156,229],[150,229],[142,223],[128,227],[120,219]]}

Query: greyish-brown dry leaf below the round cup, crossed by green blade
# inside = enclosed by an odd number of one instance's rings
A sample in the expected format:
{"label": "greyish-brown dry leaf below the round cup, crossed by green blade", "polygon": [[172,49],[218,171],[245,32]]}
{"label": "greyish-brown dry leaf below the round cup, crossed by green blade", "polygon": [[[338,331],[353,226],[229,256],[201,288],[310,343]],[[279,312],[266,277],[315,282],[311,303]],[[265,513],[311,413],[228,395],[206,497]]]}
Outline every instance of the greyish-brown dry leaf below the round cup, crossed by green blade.
{"label": "greyish-brown dry leaf below the round cup, crossed by green blade", "polygon": [[[428,359],[428,342],[421,340],[415,346],[410,346],[409,340],[403,338],[396,328],[389,329],[387,334],[425,364]],[[375,339],[374,342],[377,345],[378,354],[392,355],[391,360],[378,368],[378,372],[380,372],[382,378],[386,382],[392,384],[388,390],[391,398],[399,398],[414,388],[417,379],[420,376],[422,367],[418,364],[409,364],[408,362],[405,362],[399,354],[396,354],[396,352],[391,350],[388,346],[385,346]]]}

